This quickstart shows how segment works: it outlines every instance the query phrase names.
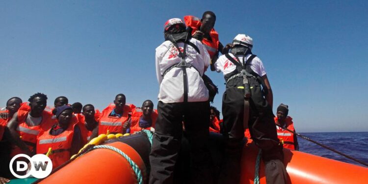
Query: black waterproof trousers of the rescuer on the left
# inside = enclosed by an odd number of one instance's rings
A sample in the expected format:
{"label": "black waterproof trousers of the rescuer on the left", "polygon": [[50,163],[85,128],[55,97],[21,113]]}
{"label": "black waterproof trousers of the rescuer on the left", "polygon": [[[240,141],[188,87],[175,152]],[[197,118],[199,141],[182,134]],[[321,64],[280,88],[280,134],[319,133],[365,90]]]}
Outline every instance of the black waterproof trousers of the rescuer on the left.
{"label": "black waterproof trousers of the rescuer on the left", "polygon": [[172,184],[183,125],[190,145],[190,183],[210,184],[210,154],[206,147],[210,126],[209,102],[164,104],[158,118],[150,154],[150,184]]}

